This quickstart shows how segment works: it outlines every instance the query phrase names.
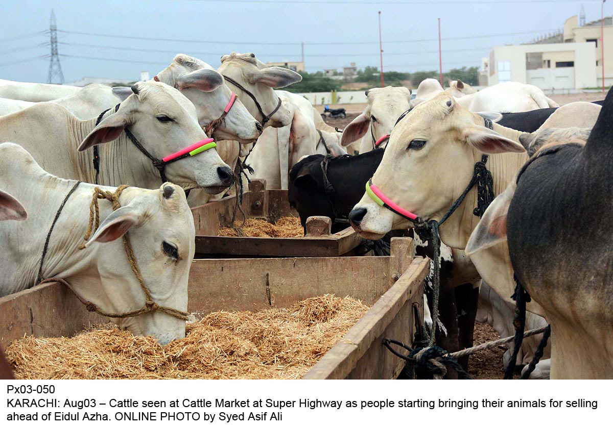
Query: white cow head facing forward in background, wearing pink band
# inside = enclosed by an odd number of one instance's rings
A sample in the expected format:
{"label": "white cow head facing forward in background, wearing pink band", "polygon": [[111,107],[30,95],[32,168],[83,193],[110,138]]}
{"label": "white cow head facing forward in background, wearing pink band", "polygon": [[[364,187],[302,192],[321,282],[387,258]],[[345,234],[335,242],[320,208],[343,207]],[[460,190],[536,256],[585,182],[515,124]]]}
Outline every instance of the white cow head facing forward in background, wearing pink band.
{"label": "white cow head facing forward in background, wearing pink band", "polygon": [[[377,141],[384,135],[389,135],[398,120],[406,110],[411,108],[411,90],[406,87],[376,87],[366,91],[368,105],[351,123],[343,130],[341,145],[348,146],[366,135],[371,130],[374,140]],[[381,144],[384,147],[385,143]],[[360,149],[360,153],[370,151],[372,144],[365,144],[366,148]]]}

